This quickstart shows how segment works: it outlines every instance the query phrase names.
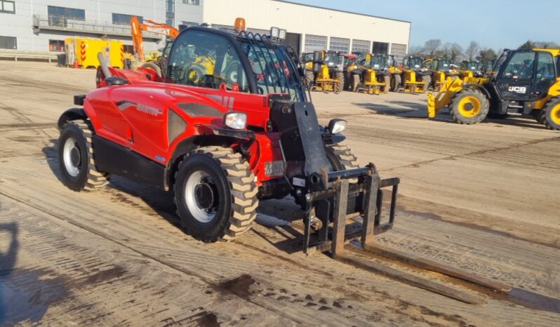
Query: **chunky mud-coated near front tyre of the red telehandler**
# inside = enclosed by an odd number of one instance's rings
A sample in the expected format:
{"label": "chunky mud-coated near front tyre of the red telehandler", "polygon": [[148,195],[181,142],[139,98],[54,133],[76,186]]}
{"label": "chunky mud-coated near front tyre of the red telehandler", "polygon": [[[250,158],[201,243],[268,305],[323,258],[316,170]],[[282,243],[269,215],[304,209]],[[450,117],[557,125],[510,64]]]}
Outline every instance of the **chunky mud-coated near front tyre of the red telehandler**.
{"label": "chunky mud-coated near front tyre of the red telehandler", "polygon": [[[188,195],[185,196],[189,194],[189,178],[201,173],[210,178],[211,182],[206,185],[211,185],[211,198],[218,201],[213,218],[207,222],[196,218],[196,213],[189,209]],[[182,227],[187,234],[200,241],[235,239],[251,229],[251,224],[257,217],[256,208],[259,201],[255,175],[241,154],[233,152],[232,149],[201,147],[185,156],[175,173],[173,189]],[[198,199],[192,198],[191,201],[191,206],[199,206]]]}

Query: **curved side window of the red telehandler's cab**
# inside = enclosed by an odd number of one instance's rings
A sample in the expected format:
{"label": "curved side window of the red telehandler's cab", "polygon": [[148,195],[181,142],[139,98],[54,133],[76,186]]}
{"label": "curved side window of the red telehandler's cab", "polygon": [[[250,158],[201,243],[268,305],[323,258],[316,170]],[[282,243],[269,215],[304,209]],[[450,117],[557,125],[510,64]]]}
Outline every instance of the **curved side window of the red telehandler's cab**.
{"label": "curved side window of the red telehandler's cab", "polygon": [[167,76],[176,84],[219,88],[223,83],[228,90],[237,84],[240,91],[249,92],[247,76],[232,44],[203,31],[184,32],[175,40]]}

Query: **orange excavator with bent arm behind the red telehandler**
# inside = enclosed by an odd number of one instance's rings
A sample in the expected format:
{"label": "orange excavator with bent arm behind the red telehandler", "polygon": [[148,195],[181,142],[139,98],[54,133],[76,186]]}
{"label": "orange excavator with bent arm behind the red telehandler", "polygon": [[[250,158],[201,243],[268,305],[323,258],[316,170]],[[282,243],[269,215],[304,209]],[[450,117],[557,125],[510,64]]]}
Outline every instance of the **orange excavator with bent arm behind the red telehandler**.
{"label": "orange excavator with bent arm behind the red telehandler", "polygon": [[[131,18],[131,32],[132,32],[132,43],[134,46],[134,54],[139,62],[142,62],[140,67],[148,67],[154,69],[157,74],[161,76],[161,54],[160,53],[150,53],[149,58],[145,58],[144,55],[144,44],[142,41],[142,32],[152,32],[156,34],[162,34],[168,36],[168,38],[175,39],[179,35],[179,30],[173,26],[163,24],[161,22],[154,22],[153,20],[145,20],[140,22],[138,17],[133,16]],[[164,53],[166,50],[171,49],[171,43],[167,42],[164,48]]]}

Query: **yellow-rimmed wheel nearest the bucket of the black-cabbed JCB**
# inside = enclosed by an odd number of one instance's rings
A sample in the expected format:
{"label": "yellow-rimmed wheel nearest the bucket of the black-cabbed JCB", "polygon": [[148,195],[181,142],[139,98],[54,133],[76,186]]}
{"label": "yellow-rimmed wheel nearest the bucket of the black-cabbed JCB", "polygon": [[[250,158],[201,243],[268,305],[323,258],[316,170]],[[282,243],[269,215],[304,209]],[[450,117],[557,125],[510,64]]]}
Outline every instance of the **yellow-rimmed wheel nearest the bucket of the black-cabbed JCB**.
{"label": "yellow-rimmed wheel nearest the bucket of the black-cabbed JCB", "polygon": [[489,109],[486,95],[474,88],[459,91],[449,104],[451,118],[459,124],[477,124],[486,118]]}

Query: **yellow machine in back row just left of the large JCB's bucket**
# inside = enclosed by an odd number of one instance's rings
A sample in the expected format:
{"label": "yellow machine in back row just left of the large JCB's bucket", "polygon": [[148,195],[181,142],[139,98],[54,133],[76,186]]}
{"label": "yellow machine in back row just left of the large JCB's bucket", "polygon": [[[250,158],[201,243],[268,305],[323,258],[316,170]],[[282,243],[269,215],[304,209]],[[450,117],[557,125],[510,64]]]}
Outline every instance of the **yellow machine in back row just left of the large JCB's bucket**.
{"label": "yellow machine in back row just left of the large JCB's bucket", "polygon": [[424,66],[424,58],[405,57],[400,69],[392,74],[391,90],[393,92],[402,90],[411,94],[425,93],[429,86],[426,83],[426,76],[429,76],[429,74],[429,69]]}

